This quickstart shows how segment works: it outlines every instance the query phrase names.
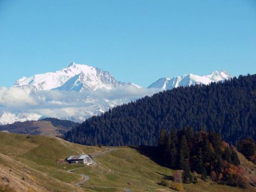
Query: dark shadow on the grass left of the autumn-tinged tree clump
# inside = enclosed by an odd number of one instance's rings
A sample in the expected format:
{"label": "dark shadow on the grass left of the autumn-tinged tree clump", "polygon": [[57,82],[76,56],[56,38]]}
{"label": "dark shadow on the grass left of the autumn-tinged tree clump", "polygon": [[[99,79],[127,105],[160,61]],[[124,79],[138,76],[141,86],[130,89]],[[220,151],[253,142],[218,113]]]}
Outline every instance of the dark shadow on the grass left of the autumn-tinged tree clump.
{"label": "dark shadow on the grass left of the autumn-tinged tree clump", "polygon": [[163,167],[168,167],[166,163],[163,162],[162,157],[159,156],[157,147],[154,146],[129,146],[132,149],[136,149],[137,152],[142,155],[147,156],[155,163]]}

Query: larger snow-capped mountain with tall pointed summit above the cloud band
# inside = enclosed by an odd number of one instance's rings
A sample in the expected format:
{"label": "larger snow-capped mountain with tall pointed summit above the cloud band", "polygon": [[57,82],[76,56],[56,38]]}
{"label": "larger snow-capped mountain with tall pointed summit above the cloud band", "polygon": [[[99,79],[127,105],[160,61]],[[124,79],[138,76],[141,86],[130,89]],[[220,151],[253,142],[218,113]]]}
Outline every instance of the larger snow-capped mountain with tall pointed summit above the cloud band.
{"label": "larger snow-capped mountain with tall pointed summit above the cloud band", "polygon": [[71,63],[68,67],[56,72],[37,74],[18,79],[14,87],[20,87],[27,93],[42,90],[85,91],[97,89],[113,89],[127,83],[117,81],[108,71],[83,64]]}

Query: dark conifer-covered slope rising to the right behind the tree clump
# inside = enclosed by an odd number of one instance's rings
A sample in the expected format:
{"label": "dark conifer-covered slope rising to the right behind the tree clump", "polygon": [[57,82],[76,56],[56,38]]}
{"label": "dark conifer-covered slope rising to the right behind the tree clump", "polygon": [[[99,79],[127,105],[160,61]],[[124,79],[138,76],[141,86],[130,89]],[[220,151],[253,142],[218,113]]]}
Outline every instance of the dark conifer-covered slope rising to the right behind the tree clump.
{"label": "dark conifer-covered slope rising to the right behind the tree clump", "polygon": [[256,139],[256,75],[163,91],[94,116],[64,134],[74,143],[156,145],[159,131],[192,126],[234,145]]}

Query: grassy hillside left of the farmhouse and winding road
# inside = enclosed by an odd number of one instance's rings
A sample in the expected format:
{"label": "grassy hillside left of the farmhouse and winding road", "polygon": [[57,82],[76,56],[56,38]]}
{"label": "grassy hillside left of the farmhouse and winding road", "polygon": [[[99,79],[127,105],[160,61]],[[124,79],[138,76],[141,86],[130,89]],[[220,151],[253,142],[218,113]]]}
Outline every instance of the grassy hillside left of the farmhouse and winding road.
{"label": "grassy hillside left of the farmhouse and winding road", "polygon": [[[64,162],[69,155],[105,150],[103,147],[68,143],[55,137],[11,133],[0,133],[0,143],[0,176],[10,180],[1,182],[18,191],[28,191],[29,186],[36,191],[79,191],[81,189],[74,183],[81,181],[81,176],[66,172],[74,166],[58,164],[56,160]],[[21,190],[20,186],[26,190]]]}

